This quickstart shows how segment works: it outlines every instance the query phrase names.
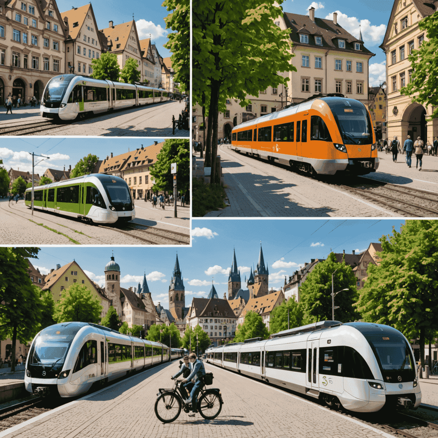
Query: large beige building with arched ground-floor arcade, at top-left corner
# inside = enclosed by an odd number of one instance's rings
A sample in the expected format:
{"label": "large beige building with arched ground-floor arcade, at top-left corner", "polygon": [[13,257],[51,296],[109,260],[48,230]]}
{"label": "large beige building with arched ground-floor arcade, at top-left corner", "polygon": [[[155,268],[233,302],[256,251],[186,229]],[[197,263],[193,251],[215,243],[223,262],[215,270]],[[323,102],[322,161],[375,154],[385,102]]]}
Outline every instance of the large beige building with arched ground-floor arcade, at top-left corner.
{"label": "large beige building with arched ground-floor arcade, at top-left corner", "polygon": [[49,79],[64,73],[67,28],[54,0],[0,3],[0,102],[11,93],[38,102]]}

